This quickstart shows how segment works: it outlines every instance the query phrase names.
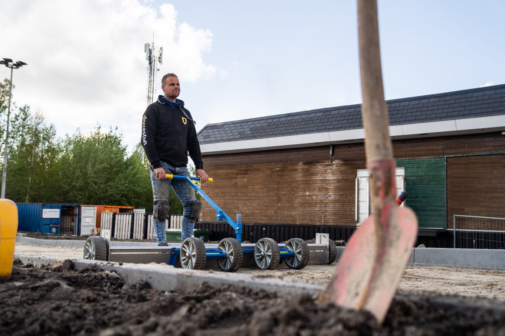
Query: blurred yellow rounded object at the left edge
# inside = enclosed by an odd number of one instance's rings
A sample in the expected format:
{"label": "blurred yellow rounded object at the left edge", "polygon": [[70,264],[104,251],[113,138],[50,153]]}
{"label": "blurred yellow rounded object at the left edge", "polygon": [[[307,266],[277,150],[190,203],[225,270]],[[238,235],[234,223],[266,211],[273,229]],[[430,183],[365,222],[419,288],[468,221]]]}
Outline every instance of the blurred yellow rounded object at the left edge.
{"label": "blurred yellow rounded object at the left edge", "polygon": [[17,231],[16,203],[10,199],[0,198],[0,278],[11,276]]}

